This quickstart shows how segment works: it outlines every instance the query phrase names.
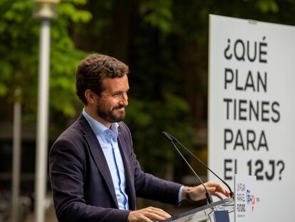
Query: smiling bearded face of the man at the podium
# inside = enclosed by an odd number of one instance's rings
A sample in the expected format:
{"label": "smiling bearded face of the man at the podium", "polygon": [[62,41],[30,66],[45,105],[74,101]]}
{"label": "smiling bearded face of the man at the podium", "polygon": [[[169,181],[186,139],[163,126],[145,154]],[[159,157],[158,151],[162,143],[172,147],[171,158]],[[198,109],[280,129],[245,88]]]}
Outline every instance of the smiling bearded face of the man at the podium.
{"label": "smiling bearded face of the man at the podium", "polygon": [[98,97],[96,113],[108,123],[120,122],[125,118],[128,106],[128,77],[104,79],[105,90]]}

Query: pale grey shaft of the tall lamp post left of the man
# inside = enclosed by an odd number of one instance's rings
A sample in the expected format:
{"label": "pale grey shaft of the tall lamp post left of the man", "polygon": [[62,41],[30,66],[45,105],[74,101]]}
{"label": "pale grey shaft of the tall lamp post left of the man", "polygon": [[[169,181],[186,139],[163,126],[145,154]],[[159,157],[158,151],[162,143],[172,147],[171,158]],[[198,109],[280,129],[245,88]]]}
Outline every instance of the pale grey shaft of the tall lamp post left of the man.
{"label": "pale grey shaft of the tall lamp post left of the man", "polygon": [[44,221],[44,206],[47,182],[48,156],[48,87],[49,87],[49,46],[50,20],[41,21],[39,72],[38,72],[38,113],[35,164],[35,220]]}

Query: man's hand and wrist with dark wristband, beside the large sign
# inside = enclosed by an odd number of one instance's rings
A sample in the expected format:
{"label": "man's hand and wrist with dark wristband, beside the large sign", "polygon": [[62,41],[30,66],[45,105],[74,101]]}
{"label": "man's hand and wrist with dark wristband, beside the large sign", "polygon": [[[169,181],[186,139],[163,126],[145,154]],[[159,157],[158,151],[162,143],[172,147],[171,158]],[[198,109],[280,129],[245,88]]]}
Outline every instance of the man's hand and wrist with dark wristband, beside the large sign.
{"label": "man's hand and wrist with dark wristband, beside the large sign", "polygon": [[[219,199],[222,199],[222,195],[229,197],[229,191],[227,191],[226,188],[224,188],[220,183],[215,183],[208,181],[207,183],[204,183],[204,185],[207,188],[208,193],[210,193],[213,196],[217,196]],[[185,193],[187,191],[187,187],[184,187],[182,189],[182,199],[185,199]],[[205,199],[205,188],[204,186],[194,186],[190,188],[190,198],[192,201],[200,201],[202,199]]]}

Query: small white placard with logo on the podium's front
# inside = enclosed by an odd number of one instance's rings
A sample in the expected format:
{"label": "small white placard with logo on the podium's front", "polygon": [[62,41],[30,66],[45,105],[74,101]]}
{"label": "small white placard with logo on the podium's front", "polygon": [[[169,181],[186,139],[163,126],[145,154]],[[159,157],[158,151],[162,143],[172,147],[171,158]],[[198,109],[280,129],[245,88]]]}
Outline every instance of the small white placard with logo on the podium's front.
{"label": "small white placard with logo on the podium's front", "polygon": [[[260,222],[256,176],[234,175],[234,221]],[[257,208],[258,207],[258,208]]]}

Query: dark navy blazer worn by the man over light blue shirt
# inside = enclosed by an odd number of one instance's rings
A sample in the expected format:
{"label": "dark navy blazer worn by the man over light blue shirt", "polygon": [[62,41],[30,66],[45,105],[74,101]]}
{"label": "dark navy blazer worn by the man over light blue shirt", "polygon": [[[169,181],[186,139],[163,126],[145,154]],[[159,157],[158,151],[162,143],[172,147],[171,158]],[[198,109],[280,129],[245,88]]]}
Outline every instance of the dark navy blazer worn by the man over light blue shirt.
{"label": "dark navy blazer worn by the man over light blue shirt", "polygon": [[[136,196],[177,204],[182,185],[141,171],[131,133],[125,123],[118,124],[130,210],[136,208]],[[118,208],[108,163],[83,115],[53,144],[49,168],[58,221],[127,221],[129,211]]]}

